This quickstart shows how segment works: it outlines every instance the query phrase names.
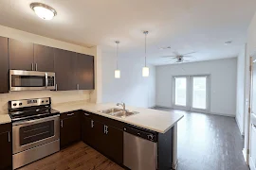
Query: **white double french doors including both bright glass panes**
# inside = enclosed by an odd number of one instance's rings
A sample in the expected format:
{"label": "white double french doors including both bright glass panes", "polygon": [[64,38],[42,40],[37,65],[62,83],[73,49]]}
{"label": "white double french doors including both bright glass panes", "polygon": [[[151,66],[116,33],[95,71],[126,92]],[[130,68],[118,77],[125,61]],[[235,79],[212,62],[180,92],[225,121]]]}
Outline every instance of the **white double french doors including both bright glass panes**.
{"label": "white double french doors including both bright glass panes", "polygon": [[174,109],[209,111],[210,76],[174,76]]}

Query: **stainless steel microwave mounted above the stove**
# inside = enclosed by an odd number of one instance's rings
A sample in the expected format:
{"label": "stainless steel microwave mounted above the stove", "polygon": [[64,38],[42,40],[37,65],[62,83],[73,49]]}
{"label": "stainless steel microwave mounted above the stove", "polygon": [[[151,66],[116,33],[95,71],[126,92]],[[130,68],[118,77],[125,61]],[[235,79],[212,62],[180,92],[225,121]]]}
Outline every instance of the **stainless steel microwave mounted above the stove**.
{"label": "stainless steel microwave mounted above the stove", "polygon": [[55,90],[55,73],[9,70],[9,91]]}

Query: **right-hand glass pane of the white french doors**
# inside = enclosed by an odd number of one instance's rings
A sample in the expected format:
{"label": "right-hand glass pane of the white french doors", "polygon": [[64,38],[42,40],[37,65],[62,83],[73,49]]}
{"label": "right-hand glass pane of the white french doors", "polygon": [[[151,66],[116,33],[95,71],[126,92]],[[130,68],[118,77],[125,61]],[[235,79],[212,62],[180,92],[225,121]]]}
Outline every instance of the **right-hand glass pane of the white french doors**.
{"label": "right-hand glass pane of the white french doors", "polygon": [[192,108],[206,110],[207,76],[192,77]]}

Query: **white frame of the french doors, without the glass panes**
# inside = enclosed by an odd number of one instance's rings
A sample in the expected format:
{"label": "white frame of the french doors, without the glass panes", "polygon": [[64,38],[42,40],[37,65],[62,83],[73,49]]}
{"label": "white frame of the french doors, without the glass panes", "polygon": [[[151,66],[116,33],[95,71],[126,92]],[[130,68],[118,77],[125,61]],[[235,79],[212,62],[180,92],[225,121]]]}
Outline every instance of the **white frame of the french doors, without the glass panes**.
{"label": "white frame of the french doors, without the glass panes", "polygon": [[[207,76],[207,97],[206,97],[206,110],[194,109],[192,108],[192,77],[193,76]],[[178,106],[175,105],[175,77],[186,77],[187,79],[187,91],[186,91],[186,106]],[[173,76],[173,108],[176,110],[190,110],[195,112],[210,112],[210,74],[202,74],[202,75],[186,75],[186,76]]]}

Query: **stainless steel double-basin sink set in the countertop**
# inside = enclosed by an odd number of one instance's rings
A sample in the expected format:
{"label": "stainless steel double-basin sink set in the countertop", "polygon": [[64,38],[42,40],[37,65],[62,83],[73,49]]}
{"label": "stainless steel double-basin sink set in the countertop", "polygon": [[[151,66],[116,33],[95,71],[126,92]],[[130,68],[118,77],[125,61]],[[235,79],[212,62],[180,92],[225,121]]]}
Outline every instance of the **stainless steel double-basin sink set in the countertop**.
{"label": "stainless steel double-basin sink set in the countertop", "polygon": [[138,113],[137,111],[129,111],[129,110],[124,111],[119,108],[111,108],[108,110],[99,110],[99,112],[104,113],[104,114],[113,115],[116,117],[121,117],[121,118],[128,117],[128,116]]}

